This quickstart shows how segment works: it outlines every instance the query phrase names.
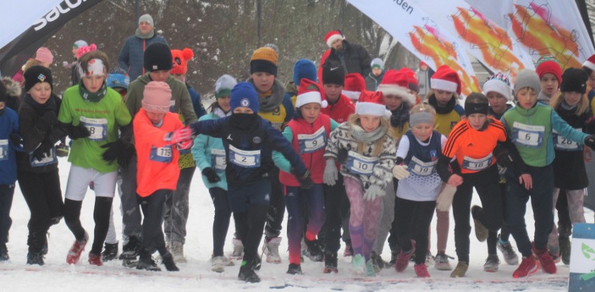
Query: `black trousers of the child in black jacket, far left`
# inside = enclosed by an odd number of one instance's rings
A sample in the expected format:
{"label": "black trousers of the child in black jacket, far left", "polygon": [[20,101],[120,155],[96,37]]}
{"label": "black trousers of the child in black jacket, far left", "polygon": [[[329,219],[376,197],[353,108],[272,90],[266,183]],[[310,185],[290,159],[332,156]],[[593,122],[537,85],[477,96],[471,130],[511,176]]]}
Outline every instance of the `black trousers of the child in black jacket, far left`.
{"label": "black trousers of the child in black jacket, far left", "polygon": [[57,169],[50,173],[19,172],[17,176],[21,192],[31,212],[27,224],[29,252],[38,253],[47,240],[47,230],[64,217],[60,177]]}

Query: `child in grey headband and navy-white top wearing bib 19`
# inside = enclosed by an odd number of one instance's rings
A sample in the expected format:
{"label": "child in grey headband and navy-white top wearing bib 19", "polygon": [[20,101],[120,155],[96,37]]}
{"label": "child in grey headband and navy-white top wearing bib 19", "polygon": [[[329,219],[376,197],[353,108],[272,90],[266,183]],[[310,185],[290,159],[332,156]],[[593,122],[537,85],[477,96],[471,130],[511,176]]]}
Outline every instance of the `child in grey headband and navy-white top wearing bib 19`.
{"label": "child in grey headband and navy-white top wearing bib 19", "polygon": [[413,107],[409,115],[410,128],[397,149],[397,166],[392,168],[393,175],[399,180],[393,225],[401,247],[395,269],[403,272],[415,252],[414,268],[420,278],[429,277],[425,264],[427,230],[442,188],[436,164],[446,142],[445,136],[434,131],[434,115],[436,111],[432,105],[423,103]]}

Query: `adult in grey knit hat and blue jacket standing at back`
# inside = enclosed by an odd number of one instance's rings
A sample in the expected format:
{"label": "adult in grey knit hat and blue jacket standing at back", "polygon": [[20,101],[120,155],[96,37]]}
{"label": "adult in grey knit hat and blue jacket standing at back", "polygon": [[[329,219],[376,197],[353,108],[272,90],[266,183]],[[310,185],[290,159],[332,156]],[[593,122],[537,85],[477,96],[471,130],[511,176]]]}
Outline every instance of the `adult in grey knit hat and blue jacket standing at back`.
{"label": "adult in grey knit hat and blue jacket standing at back", "polygon": [[168,45],[165,38],[155,34],[153,17],[145,14],[138,18],[138,29],[133,36],[126,38],[118,56],[118,65],[128,72],[130,80],[135,80],[138,76],[145,74],[142,60],[145,56],[145,49],[152,43]]}

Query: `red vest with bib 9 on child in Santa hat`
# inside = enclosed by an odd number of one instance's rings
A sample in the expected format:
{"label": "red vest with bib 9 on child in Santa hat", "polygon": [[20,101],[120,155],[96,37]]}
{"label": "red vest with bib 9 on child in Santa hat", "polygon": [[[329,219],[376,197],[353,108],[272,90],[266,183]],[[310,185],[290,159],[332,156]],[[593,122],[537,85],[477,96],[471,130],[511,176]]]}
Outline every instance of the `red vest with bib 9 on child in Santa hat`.
{"label": "red vest with bib 9 on child in Santa hat", "polygon": [[[326,165],[324,152],[330,135],[330,117],[321,113],[312,124],[305,119],[292,119],[288,126],[293,133],[293,140],[291,140],[293,149],[300,154],[304,165],[310,170],[312,181],[315,184],[322,184]],[[300,139],[302,135],[310,137]],[[300,182],[291,173],[283,170],[279,171],[279,181],[289,187],[300,187]]]}

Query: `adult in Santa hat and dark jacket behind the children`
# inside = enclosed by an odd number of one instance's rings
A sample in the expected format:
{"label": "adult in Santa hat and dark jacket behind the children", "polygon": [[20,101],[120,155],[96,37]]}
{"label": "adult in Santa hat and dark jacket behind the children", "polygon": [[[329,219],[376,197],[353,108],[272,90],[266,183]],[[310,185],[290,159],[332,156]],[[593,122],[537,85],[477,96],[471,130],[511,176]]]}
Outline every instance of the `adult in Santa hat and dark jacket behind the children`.
{"label": "adult in Santa hat and dark jacket behind the children", "polygon": [[345,74],[360,73],[363,78],[372,71],[370,68],[372,58],[366,49],[361,45],[348,43],[341,31],[330,31],[324,41],[330,48],[330,52],[328,57],[323,56],[321,64],[332,61],[333,64],[341,64]]}

